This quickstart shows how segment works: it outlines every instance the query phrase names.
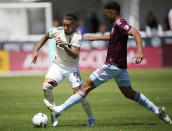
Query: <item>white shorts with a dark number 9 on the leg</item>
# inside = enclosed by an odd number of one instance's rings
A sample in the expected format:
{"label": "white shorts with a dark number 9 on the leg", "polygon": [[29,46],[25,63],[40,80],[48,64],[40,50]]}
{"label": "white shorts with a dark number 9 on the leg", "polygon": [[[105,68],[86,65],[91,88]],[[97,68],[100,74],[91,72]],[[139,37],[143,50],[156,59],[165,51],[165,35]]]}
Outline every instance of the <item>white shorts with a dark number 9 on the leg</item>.
{"label": "white shorts with a dark number 9 on the leg", "polygon": [[64,78],[68,80],[72,88],[82,85],[82,79],[78,67],[61,66],[52,63],[45,78],[51,78],[59,84]]}

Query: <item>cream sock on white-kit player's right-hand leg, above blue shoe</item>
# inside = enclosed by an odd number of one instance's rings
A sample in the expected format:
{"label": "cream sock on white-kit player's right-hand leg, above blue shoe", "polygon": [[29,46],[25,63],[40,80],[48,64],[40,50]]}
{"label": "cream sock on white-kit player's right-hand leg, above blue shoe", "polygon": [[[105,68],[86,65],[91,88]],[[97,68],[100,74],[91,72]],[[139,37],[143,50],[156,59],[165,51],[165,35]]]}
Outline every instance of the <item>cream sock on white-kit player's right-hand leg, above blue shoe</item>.
{"label": "cream sock on white-kit player's right-hand leg, above blue shoe", "polygon": [[83,101],[81,101],[81,105],[88,116],[88,120],[94,119],[93,111],[91,109],[91,104],[87,98],[84,98]]}

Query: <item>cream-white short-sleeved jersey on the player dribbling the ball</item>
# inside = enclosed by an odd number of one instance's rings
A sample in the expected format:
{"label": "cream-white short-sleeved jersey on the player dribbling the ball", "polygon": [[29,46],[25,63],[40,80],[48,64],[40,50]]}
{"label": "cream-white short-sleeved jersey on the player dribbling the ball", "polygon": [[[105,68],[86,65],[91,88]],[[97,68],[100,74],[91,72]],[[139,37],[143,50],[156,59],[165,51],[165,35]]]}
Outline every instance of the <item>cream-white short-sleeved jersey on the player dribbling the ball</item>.
{"label": "cream-white short-sleeved jersey on the player dribbling the ball", "polygon": [[[71,35],[66,35],[63,27],[57,27],[53,28],[48,34],[50,38],[54,38],[55,40],[60,38],[69,48],[71,48],[71,46],[76,48],[81,47],[82,35],[78,30],[74,31]],[[55,63],[62,66],[77,66],[78,61],[79,57],[76,59],[72,58],[67,54],[64,48],[57,44],[54,58]]]}

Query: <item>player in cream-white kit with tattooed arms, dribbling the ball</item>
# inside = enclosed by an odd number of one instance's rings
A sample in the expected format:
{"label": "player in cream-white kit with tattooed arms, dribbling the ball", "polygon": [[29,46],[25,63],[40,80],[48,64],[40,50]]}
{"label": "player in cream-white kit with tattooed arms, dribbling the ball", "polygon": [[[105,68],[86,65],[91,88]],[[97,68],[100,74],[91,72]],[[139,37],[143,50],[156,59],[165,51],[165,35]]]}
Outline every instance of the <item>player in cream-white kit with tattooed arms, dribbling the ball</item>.
{"label": "player in cream-white kit with tattooed arms, dribbling the ball", "polygon": [[[45,34],[33,52],[32,63],[37,63],[38,51],[48,39],[56,40],[56,52],[54,61],[49,68],[43,83],[44,103],[47,107],[55,105],[52,89],[57,86],[64,78],[70,83],[73,92],[76,93],[82,80],[78,69],[79,51],[81,47],[81,32],[77,30],[77,17],[67,14],[63,20],[63,27],[53,28]],[[81,102],[86,114],[88,115],[88,126],[95,124],[95,119],[91,105],[87,99]],[[57,126],[57,116],[51,112],[52,126]]]}

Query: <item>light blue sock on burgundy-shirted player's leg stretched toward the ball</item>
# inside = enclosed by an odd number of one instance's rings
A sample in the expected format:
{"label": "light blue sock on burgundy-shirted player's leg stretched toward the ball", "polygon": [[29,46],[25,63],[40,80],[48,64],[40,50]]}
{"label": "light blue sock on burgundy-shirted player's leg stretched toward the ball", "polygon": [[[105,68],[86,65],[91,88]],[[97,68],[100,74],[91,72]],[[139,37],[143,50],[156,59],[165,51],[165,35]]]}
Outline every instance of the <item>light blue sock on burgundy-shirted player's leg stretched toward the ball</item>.
{"label": "light blue sock on burgundy-shirted player's leg stretched toward the ball", "polygon": [[84,97],[85,97],[85,93],[83,93],[82,91],[78,91],[76,94],[72,95],[71,97],[69,97],[65,103],[63,103],[62,105],[60,105],[61,108],[61,112],[63,112],[64,110],[68,109],[69,107],[81,102]]}

